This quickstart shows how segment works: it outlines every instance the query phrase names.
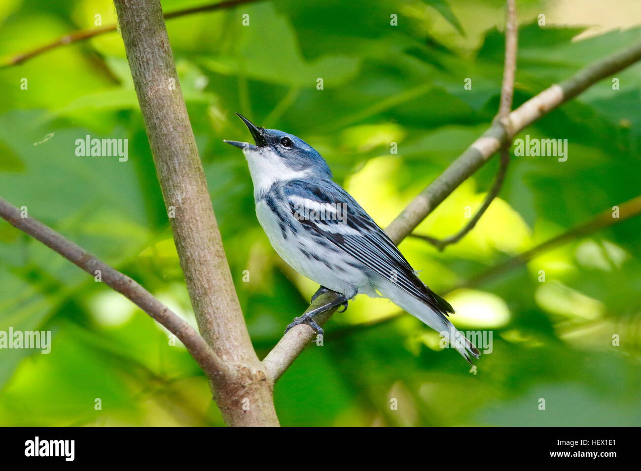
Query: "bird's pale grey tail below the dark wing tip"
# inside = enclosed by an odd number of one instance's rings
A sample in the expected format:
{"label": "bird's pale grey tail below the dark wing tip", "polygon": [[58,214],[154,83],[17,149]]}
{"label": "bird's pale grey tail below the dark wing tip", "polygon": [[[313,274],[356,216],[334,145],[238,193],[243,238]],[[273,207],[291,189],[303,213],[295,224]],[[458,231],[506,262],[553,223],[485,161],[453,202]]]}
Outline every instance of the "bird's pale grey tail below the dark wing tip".
{"label": "bird's pale grey tail below the dark wing tip", "polygon": [[[399,308],[419,318],[429,327],[444,336],[447,342],[462,354],[463,358],[465,358],[470,365],[474,365],[471,357],[479,358],[481,353],[474,346],[474,343],[467,340],[467,338],[449,322],[444,313],[435,310],[425,302],[387,280],[380,283],[377,288],[383,297],[387,297],[399,306]],[[446,301],[442,300],[442,302],[449,306]],[[440,304],[442,303],[439,303],[439,305]]]}

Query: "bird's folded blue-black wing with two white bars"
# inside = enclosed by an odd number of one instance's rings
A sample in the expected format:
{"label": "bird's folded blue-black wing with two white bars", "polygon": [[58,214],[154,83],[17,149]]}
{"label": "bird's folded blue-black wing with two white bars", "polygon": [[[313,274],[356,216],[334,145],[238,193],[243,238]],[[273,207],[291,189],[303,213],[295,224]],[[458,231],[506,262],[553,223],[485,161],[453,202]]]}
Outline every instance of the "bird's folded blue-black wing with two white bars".
{"label": "bird's folded blue-black wing with two white bars", "polygon": [[394,242],[351,195],[333,181],[289,181],[283,187],[292,215],[379,276],[426,302],[442,315],[452,306],[416,275]]}

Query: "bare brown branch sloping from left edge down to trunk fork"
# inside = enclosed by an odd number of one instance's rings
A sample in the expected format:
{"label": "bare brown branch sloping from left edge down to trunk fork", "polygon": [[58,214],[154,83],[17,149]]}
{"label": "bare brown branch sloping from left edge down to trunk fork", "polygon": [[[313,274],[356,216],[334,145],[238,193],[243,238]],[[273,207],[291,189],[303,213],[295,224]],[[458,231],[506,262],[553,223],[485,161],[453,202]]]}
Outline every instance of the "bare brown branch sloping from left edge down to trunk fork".
{"label": "bare brown branch sloping from left edge down to trunk fork", "polygon": [[0,198],[0,217],[58,252],[91,276],[100,274],[101,281],[105,285],[121,293],[183,342],[187,351],[209,377],[221,377],[221,380],[229,377],[227,365],[194,328],[133,279],[113,269],[42,222],[31,217],[21,217],[21,211],[2,198]]}

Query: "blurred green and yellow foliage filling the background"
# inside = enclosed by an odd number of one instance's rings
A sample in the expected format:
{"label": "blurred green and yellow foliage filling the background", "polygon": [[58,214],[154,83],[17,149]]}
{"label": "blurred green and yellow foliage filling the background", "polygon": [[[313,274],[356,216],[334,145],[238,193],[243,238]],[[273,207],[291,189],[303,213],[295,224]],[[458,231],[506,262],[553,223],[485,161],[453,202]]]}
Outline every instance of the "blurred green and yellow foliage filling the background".
{"label": "blurred green and yellow foliage filling the background", "polygon": [[[555,13],[562,3],[519,2],[515,106],[641,40],[638,28],[573,40],[585,28]],[[203,1],[162,4],[171,12]],[[540,13],[546,26],[537,24]],[[103,24],[115,21],[108,0],[5,0],[0,56],[91,28],[96,14]],[[600,21],[595,11],[590,24]],[[385,226],[492,120],[503,2],[276,0],[174,19],[167,28],[231,272],[264,356],[317,286],[278,258],[256,221],[244,158],[222,143],[247,138],[233,112],[319,149],[337,181]],[[443,253],[403,242],[422,279],[442,292],[635,197],[640,72],[635,65],[617,74],[619,90],[609,79],[598,83],[526,130],[568,139],[568,160],[513,157],[501,199],[462,242]],[[0,69],[0,90],[1,196],[194,322],[118,33]],[[85,135],[128,138],[129,160],[76,156],[74,142]],[[481,204],[496,168],[488,163],[417,233],[462,227],[465,208]],[[640,425],[640,242],[641,218],[632,219],[449,295],[455,324],[493,335],[478,374],[439,349],[418,320],[395,316],[389,302],[357,299],[329,323],[325,345],[309,347],[277,384],[281,423]],[[2,222],[0,330],[9,327],[50,330],[53,345],[50,354],[0,350],[3,426],[222,424],[203,374],[162,327]]]}

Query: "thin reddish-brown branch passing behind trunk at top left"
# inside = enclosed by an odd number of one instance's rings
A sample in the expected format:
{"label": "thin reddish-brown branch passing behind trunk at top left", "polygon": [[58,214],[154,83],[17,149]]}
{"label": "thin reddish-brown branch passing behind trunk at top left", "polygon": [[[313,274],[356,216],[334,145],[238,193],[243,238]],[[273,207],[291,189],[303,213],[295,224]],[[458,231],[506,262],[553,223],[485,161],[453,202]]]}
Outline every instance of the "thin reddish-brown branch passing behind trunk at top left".
{"label": "thin reddish-brown branch passing behind trunk at top left", "polygon": [[[223,10],[224,8],[232,8],[244,3],[254,3],[257,1],[262,0],[226,0],[220,3],[196,6],[194,8],[185,8],[183,10],[177,10],[176,12],[165,13],[165,19],[169,20],[172,18],[183,17],[185,15],[193,15],[194,13],[213,12],[215,10]],[[53,42],[43,44],[41,46],[35,47],[34,49],[29,49],[29,51],[24,51],[23,53],[15,54],[15,56],[7,60],[7,62],[0,65],[0,69],[2,69],[3,67],[12,67],[13,65],[18,65],[20,63],[26,62],[29,59],[39,56],[40,54],[47,53],[48,51],[56,49],[60,46],[84,41],[89,38],[94,38],[96,36],[103,35],[104,33],[116,31],[116,29],[116,24],[106,24],[104,26],[99,26],[98,28],[80,29],[79,31],[68,33]]]}

